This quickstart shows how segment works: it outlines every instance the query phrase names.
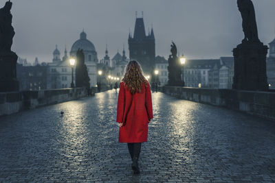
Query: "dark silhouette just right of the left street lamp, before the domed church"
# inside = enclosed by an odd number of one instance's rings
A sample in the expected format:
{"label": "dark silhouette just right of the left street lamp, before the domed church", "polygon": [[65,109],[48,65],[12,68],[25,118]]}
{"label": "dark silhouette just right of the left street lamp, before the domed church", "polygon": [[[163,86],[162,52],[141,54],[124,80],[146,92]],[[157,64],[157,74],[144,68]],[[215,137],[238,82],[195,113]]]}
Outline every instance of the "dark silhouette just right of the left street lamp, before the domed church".
{"label": "dark silhouette just right of the left street lamp, before the domed church", "polygon": [[89,90],[90,78],[87,71],[87,66],[84,62],[83,50],[78,49],[76,52],[76,87],[85,87]]}

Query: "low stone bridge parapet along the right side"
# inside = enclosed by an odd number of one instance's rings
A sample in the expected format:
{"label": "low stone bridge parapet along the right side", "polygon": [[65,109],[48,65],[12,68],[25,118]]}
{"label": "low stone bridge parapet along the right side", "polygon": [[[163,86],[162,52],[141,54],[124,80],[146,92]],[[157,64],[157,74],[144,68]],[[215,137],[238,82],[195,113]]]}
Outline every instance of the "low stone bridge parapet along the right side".
{"label": "low stone bridge parapet along the right side", "polygon": [[180,99],[221,106],[275,121],[275,92],[164,86],[163,93]]}

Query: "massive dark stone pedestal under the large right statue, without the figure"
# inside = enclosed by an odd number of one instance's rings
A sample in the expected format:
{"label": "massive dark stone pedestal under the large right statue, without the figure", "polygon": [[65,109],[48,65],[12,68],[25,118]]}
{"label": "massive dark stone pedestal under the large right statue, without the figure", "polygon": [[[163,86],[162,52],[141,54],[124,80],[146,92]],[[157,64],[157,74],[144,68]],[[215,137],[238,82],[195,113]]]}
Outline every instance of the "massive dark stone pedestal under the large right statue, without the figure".
{"label": "massive dark stone pedestal under the large right statue, without the figure", "polygon": [[261,42],[244,42],[233,49],[233,89],[268,90],[266,56],[268,47]]}

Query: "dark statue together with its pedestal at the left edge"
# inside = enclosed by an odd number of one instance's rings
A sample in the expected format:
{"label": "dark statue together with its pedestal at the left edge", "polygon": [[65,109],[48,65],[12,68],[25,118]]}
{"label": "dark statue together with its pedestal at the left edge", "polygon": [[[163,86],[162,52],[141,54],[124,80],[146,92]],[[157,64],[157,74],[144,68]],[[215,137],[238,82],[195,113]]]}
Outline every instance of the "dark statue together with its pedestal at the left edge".
{"label": "dark statue together with its pedestal at the left edge", "polygon": [[19,90],[17,80],[17,54],[11,51],[14,29],[12,27],[12,2],[0,9],[0,92]]}

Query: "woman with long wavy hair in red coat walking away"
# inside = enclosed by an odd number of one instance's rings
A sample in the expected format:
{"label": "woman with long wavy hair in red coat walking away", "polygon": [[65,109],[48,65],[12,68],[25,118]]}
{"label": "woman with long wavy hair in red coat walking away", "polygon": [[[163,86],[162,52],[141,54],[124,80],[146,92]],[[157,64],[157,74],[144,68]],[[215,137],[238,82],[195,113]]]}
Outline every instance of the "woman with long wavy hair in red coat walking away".
{"label": "woman with long wavy hair in red coat walking away", "polygon": [[147,141],[148,123],[153,119],[151,89],[142,75],[142,68],[133,60],[126,72],[118,93],[116,121],[120,126],[119,142],[128,143],[133,173],[140,173],[137,161],[141,144]]}

